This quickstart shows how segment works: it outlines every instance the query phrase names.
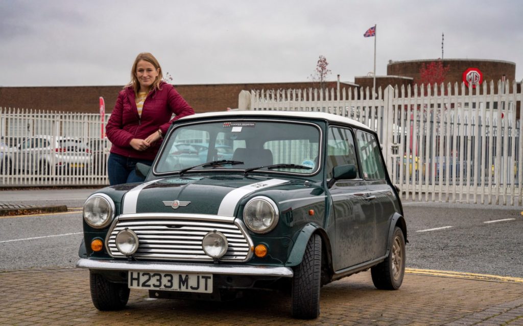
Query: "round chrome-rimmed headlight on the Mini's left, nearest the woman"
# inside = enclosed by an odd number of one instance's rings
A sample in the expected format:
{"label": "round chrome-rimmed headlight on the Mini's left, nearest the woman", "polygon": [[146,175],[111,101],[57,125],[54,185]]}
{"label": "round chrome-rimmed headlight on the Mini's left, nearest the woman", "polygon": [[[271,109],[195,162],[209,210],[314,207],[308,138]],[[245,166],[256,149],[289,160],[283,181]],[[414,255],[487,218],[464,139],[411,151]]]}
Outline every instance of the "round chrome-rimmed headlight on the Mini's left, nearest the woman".
{"label": "round chrome-rimmed headlight on the Mini's left, nearest the woman", "polygon": [[106,227],[115,215],[115,203],[105,194],[95,194],[84,204],[84,220],[94,228]]}

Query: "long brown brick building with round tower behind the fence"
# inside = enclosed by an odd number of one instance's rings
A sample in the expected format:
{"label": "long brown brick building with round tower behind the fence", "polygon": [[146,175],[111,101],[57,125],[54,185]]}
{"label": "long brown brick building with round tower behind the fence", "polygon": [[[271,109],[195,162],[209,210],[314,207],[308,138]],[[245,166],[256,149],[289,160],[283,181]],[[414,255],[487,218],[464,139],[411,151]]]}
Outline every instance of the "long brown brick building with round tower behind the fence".
{"label": "long brown brick building with round tower behind the fence", "polygon": [[[390,61],[386,76],[376,76],[376,87],[410,85],[419,82],[419,70],[423,64],[438,59]],[[444,59],[444,67],[450,66],[445,83],[463,81],[463,73],[469,68],[481,71],[483,80],[497,82],[503,76],[515,79],[516,64],[507,61],[482,59]],[[357,76],[354,83],[342,82],[340,88],[372,88],[372,76]],[[175,85],[178,92],[195,108],[197,113],[224,111],[238,106],[242,90],[287,90],[318,88],[317,82],[236,83],[236,84],[186,84]],[[327,88],[337,88],[337,82],[327,82]],[[520,87],[520,83],[518,88]],[[69,87],[0,87],[0,107],[30,108],[62,112],[98,113],[98,98],[102,96],[106,112],[110,113],[122,86],[69,86]]]}

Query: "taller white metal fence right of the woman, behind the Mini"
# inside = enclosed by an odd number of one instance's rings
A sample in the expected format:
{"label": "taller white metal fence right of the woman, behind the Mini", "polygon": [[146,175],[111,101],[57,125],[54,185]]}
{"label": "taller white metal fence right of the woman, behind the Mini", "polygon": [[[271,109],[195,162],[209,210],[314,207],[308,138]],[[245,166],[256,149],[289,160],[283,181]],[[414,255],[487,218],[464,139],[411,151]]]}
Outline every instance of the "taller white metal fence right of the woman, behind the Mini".
{"label": "taller white metal fence right of the woman, behind the Mini", "polygon": [[369,89],[252,91],[240,94],[246,106],[240,110],[320,111],[358,120],[378,132],[404,199],[523,206],[517,88],[508,81],[497,88],[494,82],[389,86],[374,99]]}

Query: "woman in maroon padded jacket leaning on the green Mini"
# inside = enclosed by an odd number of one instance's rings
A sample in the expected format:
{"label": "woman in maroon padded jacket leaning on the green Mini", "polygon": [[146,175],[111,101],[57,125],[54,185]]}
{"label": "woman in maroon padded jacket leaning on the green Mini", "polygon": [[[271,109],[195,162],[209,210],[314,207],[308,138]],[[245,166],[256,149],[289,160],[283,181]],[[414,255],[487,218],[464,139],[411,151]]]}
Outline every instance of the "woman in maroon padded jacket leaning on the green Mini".
{"label": "woman in maroon padded jacket leaning on the green Mini", "polygon": [[[173,113],[176,116],[171,119]],[[140,53],[131,69],[131,82],[118,94],[106,126],[112,143],[107,162],[109,184],[142,182],[134,170],[136,163],[151,165],[170,124],[191,114],[192,107],[163,81],[156,58]]]}

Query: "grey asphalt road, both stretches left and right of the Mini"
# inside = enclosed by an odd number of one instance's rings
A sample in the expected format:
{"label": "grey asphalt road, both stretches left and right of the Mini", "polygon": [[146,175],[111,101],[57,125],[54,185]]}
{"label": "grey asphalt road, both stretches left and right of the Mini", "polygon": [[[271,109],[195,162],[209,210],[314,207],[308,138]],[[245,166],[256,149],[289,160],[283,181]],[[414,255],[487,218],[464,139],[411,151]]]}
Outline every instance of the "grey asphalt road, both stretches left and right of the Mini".
{"label": "grey asphalt road, both stretches left and right of the Mini", "polygon": [[[520,209],[404,203],[404,211],[407,268],[523,277]],[[0,218],[0,270],[73,267],[81,232],[79,211]]]}

